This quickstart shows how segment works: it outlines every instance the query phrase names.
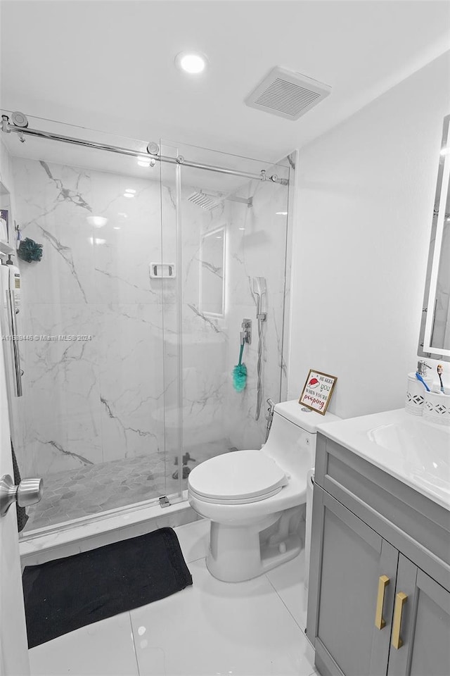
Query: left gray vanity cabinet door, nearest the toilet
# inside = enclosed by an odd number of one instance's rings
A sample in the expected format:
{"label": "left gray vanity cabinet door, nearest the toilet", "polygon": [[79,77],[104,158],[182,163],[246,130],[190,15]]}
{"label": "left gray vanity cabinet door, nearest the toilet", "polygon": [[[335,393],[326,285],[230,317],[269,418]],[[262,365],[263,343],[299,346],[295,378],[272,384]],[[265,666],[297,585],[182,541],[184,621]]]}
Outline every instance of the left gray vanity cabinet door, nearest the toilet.
{"label": "left gray vanity cabinet door, nearest the toilet", "polygon": [[318,485],[314,520],[321,525],[321,571],[316,664],[323,675],[386,673],[394,586],[383,586],[375,627],[380,577],[397,575],[398,551]]}

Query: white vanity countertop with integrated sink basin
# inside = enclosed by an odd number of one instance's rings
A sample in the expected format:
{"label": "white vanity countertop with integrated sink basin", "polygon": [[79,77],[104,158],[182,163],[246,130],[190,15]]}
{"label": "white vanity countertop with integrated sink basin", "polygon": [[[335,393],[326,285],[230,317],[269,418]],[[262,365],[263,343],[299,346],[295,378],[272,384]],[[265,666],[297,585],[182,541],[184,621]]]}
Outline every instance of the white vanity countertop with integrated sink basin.
{"label": "white vanity countertop with integrated sink basin", "polygon": [[399,408],[317,431],[450,511],[450,427]]}

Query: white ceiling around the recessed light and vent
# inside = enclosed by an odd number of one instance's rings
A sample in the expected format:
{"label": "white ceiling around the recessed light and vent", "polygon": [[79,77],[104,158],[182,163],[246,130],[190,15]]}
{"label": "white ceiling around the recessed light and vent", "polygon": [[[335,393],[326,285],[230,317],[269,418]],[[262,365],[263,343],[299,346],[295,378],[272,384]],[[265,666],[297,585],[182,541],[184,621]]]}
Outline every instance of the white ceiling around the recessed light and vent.
{"label": "white ceiling around the recessed light and vent", "polygon": [[[449,46],[446,1],[4,0],[1,107],[277,161]],[[189,49],[204,75],[176,69]],[[295,122],[248,108],[274,65],[332,93]]]}

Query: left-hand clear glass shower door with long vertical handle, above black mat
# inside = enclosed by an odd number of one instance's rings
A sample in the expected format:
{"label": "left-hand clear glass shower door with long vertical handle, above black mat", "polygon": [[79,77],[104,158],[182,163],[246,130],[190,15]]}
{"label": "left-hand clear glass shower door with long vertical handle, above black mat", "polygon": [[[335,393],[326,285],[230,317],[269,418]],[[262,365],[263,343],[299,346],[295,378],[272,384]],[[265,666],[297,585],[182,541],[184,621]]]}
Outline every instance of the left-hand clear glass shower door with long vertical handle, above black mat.
{"label": "left-hand clear glass shower door with long vertical handle, above black mat", "polygon": [[[148,158],[146,142],[30,126]],[[41,261],[18,261],[18,330],[29,338],[13,441],[22,474],[45,485],[26,536],[167,493],[163,287],[152,274],[162,261],[160,168],[46,139],[7,143],[13,219],[43,246]]]}

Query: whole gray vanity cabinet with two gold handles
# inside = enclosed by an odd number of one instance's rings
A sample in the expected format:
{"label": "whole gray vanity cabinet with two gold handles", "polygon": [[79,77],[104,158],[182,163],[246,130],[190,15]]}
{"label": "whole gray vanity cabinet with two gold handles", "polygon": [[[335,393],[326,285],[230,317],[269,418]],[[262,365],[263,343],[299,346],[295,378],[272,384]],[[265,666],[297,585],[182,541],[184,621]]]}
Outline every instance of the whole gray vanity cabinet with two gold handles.
{"label": "whole gray vanity cabinet with two gold handles", "polygon": [[450,675],[449,513],[400,483],[319,435],[307,635],[323,676]]}

